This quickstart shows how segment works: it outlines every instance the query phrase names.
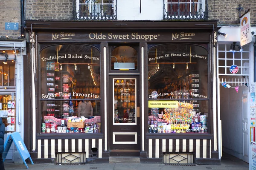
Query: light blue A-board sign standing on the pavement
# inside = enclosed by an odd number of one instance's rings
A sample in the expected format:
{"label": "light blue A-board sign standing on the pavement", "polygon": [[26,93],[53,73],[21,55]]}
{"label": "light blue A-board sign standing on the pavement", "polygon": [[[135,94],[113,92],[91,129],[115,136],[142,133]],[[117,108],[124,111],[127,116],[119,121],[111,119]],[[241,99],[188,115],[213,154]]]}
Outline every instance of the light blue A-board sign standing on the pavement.
{"label": "light blue A-board sign standing on the pavement", "polygon": [[12,145],[12,142],[15,143],[17,150],[20,153],[21,158],[23,159],[24,164],[26,165],[27,169],[29,169],[28,165],[26,164],[26,159],[30,159],[31,163],[33,163],[29,151],[26,148],[26,145],[24,144],[20,133],[18,132],[14,132],[14,133],[10,133],[7,136],[6,142],[4,143],[4,150],[3,150],[3,161],[6,159],[7,153],[9,152],[9,149]]}

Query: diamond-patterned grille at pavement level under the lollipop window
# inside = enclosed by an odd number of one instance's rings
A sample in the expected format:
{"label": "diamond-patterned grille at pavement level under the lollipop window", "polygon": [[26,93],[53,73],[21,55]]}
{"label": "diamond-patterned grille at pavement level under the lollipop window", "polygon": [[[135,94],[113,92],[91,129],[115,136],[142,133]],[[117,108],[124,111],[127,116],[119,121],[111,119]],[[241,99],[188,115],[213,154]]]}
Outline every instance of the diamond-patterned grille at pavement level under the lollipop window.
{"label": "diamond-patterned grille at pavement level under the lollipop window", "polygon": [[168,165],[182,165],[192,166],[194,165],[193,153],[163,153],[163,163]]}

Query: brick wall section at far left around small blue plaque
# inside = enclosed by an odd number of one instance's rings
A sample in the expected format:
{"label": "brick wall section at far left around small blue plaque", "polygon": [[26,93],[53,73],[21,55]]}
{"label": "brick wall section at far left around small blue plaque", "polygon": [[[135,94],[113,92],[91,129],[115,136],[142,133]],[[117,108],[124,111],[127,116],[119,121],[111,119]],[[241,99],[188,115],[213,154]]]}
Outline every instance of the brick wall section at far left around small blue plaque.
{"label": "brick wall section at far left around small blue plaque", "polygon": [[0,18],[0,38],[20,36],[20,27],[19,30],[5,30],[5,23],[19,23],[20,26],[20,0],[0,0]]}

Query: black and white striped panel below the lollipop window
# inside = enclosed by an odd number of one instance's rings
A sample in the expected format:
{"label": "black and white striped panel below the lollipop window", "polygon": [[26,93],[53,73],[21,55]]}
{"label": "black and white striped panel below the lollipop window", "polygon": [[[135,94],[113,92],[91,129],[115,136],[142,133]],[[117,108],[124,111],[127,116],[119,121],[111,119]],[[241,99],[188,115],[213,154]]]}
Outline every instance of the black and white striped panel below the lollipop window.
{"label": "black and white striped panel below the lollipop window", "polygon": [[194,153],[195,158],[211,158],[210,139],[147,139],[148,158],[161,158],[163,152]]}

